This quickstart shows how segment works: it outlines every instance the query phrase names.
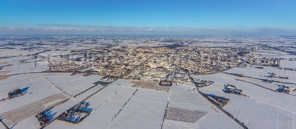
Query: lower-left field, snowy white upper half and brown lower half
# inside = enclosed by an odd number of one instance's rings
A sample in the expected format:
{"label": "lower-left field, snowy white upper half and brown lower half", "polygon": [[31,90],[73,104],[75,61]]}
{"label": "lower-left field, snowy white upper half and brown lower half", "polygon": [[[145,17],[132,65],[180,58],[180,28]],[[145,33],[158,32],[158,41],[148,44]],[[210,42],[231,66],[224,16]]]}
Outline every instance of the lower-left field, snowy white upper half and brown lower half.
{"label": "lower-left field, snowy white upper half and brown lower half", "polygon": [[1,119],[11,126],[69,98],[57,88],[50,87],[32,94],[9,99],[0,103]]}

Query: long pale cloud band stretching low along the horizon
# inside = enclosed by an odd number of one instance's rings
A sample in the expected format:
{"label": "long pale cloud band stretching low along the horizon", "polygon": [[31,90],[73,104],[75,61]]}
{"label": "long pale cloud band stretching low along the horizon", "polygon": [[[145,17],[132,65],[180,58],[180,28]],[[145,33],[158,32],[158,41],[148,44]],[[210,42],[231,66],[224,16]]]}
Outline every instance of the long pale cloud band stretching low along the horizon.
{"label": "long pale cloud band stretching low along the horizon", "polygon": [[[213,35],[223,35],[223,34],[239,34],[239,35],[280,35],[289,34],[289,32],[280,28],[268,28],[262,27],[253,30],[235,30],[235,29],[213,29],[213,28],[189,28],[189,27],[167,27],[167,28],[149,28],[149,27],[113,27],[113,26],[90,26],[90,25],[48,25],[48,24],[38,24],[45,27],[0,27],[1,32],[117,32],[117,33],[180,33],[180,34],[213,34]],[[46,27],[49,26],[49,27]],[[295,34],[295,32],[292,32]],[[291,35],[292,35],[291,34]]]}

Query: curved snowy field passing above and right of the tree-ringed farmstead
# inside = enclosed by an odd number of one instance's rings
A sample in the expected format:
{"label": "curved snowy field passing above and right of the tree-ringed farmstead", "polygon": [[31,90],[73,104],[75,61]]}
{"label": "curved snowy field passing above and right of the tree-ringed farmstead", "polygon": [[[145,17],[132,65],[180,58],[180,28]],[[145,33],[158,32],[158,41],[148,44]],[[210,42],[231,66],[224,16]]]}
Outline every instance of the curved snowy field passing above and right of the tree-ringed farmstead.
{"label": "curved snowy field passing above and right of the tree-ringed farmstead", "polygon": [[[252,98],[258,99],[268,104],[272,104],[272,105],[284,108],[285,110],[296,112],[296,109],[294,108],[296,106],[296,100],[292,99],[292,98],[296,98],[296,96],[275,92],[254,84],[235,80],[235,79],[246,80],[245,78],[240,78],[237,76],[232,76],[232,75],[223,74],[223,73],[218,73],[213,75],[194,76],[194,77],[200,78],[200,79],[208,79],[208,80],[214,81],[215,83],[221,84],[221,85],[216,84],[213,86],[210,85],[210,86],[204,87],[203,89],[210,89],[217,92],[222,92],[223,84],[233,84],[234,86],[237,86],[240,89],[242,89],[244,93],[248,94]],[[254,81],[254,80],[249,79],[249,81],[253,81],[254,83],[257,83],[257,81]]]}

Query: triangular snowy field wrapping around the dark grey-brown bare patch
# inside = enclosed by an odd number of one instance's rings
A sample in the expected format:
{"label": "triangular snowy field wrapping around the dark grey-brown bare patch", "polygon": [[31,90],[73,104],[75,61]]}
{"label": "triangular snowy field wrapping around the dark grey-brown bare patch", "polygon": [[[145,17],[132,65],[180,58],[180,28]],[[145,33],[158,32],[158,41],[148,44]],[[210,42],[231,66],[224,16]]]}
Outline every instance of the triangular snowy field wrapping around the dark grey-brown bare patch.
{"label": "triangular snowy field wrapping around the dark grey-brown bare patch", "polygon": [[168,107],[180,107],[208,113],[195,123],[165,119],[163,128],[242,128],[238,123],[215,107],[215,105],[202,97],[197,90],[190,92],[187,90],[193,87],[178,85],[173,84]]}

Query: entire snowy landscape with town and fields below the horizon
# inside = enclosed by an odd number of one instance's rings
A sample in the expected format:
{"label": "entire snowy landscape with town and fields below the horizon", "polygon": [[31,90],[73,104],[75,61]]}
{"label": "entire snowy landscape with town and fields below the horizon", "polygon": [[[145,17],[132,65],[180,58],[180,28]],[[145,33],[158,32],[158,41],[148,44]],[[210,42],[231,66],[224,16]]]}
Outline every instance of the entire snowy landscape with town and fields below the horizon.
{"label": "entire snowy landscape with town and fields below the horizon", "polygon": [[0,36],[0,129],[296,128],[296,36]]}

